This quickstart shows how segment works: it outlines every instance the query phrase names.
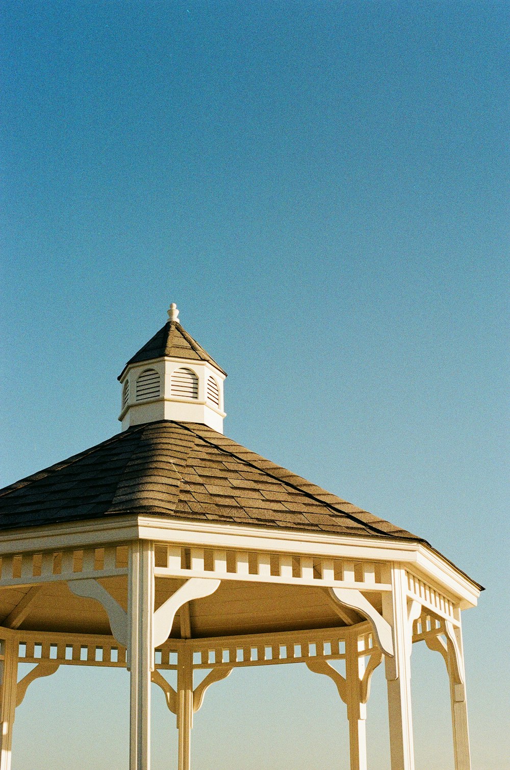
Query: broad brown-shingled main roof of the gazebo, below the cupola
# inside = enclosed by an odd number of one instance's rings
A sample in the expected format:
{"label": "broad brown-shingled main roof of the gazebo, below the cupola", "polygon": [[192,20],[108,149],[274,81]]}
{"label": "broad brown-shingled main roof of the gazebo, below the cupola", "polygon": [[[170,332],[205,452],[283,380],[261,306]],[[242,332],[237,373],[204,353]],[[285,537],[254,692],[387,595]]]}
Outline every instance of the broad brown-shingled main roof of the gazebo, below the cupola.
{"label": "broad brown-shingled main roof of the gazebo, below the cupola", "polygon": [[123,431],[0,491],[0,528],[111,515],[425,543],[198,423]]}

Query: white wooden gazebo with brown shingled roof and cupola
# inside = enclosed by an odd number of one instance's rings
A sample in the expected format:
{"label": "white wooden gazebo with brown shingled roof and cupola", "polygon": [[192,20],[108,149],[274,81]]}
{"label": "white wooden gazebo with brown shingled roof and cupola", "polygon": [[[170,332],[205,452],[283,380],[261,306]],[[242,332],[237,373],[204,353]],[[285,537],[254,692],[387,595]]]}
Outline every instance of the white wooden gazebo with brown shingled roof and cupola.
{"label": "white wooden gazebo with brown shingled roof and cupola", "polygon": [[[159,685],[189,770],[207,688],[236,667],[296,662],[335,682],[362,770],[382,661],[392,770],[412,770],[418,641],[445,660],[455,768],[468,770],[461,611],[482,587],[422,537],[225,437],[225,372],[175,305],[168,316],[118,378],[122,431],[0,493],[0,770],[28,685],[60,665],[128,669],[130,770],[150,767]],[[19,662],[35,664],[20,681]]]}

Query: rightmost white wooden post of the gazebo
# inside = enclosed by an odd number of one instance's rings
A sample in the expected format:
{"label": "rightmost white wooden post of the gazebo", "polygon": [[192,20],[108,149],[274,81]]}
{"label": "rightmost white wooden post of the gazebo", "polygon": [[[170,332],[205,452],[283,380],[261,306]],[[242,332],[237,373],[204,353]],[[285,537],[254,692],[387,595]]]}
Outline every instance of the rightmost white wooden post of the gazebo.
{"label": "rightmost white wooden post of the gazebo", "polygon": [[[457,613],[460,623],[460,611]],[[455,648],[452,641],[448,639],[448,678],[450,680],[450,702],[452,705],[452,729],[453,729],[453,752],[455,757],[455,770],[471,770],[471,752],[469,749],[468,732],[468,705],[465,695],[465,667],[464,667],[464,648],[462,647],[462,628],[459,626],[453,630],[458,645],[458,655],[460,660],[455,661]],[[459,683],[455,676],[460,664],[462,678],[464,681]]]}

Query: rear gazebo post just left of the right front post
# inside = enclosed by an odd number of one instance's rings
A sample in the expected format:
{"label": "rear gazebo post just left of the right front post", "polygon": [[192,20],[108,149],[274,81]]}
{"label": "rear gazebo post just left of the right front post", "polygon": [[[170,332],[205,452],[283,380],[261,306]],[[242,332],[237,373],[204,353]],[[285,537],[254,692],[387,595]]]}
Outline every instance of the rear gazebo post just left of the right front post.
{"label": "rear gazebo post just left of the right front post", "polygon": [[347,698],[351,770],[367,770],[365,728],[367,707],[365,703],[362,703],[365,658],[358,656],[358,651],[362,649],[363,640],[355,634],[348,634],[345,640],[345,695]]}

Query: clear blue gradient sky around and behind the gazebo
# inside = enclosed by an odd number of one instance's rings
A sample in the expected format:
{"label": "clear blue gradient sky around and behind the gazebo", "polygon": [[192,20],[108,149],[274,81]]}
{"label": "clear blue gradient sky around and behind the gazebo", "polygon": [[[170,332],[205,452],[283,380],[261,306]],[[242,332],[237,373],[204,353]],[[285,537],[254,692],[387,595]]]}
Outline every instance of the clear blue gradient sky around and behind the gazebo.
{"label": "clear blue gradient sky around and behind the gazebo", "polygon": [[[473,767],[510,768],[508,3],[5,0],[2,28],[0,484],[118,432],[175,301],[226,434],[485,585]],[[445,770],[442,659],[415,645],[412,675],[417,768]],[[153,734],[175,768],[160,691]],[[35,682],[14,741],[13,770],[123,770],[127,675]],[[295,665],[215,685],[192,742],[194,770],[348,766],[334,685]]]}

